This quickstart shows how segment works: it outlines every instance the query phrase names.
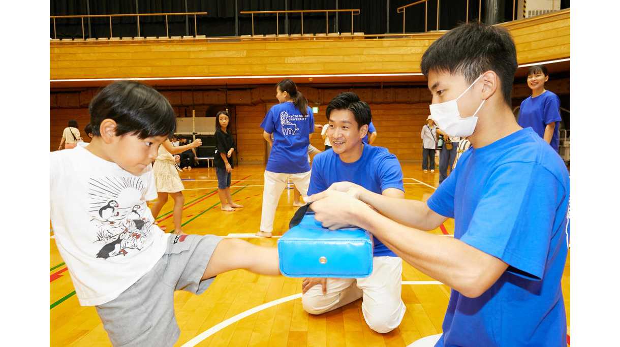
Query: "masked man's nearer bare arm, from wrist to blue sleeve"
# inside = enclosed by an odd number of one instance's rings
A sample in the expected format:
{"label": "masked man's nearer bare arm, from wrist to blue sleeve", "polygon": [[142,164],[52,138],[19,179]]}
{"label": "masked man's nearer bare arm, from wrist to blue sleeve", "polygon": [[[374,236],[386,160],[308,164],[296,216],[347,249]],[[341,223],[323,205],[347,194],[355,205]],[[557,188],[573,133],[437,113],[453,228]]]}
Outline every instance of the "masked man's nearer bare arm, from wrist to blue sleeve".
{"label": "masked man's nearer bare arm, from wrist to blue sleeve", "polygon": [[508,268],[461,240],[405,227],[374,211],[356,213],[353,220],[404,261],[467,297],[482,295]]}

